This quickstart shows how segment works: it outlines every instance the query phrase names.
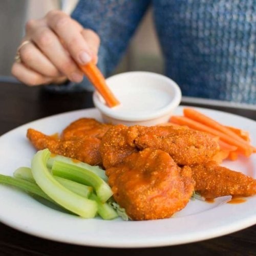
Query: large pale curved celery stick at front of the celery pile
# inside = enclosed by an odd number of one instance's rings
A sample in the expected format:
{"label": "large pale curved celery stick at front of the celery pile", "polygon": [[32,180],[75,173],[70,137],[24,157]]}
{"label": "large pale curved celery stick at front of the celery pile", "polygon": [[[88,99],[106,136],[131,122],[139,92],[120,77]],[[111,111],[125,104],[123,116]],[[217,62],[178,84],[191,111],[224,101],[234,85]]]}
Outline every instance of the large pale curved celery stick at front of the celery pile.
{"label": "large pale curved celery stick at front of the celery pile", "polygon": [[38,186],[62,207],[83,218],[93,218],[97,213],[97,203],[75,194],[55,180],[46,166],[50,155],[46,148],[38,151],[32,159],[31,170]]}

